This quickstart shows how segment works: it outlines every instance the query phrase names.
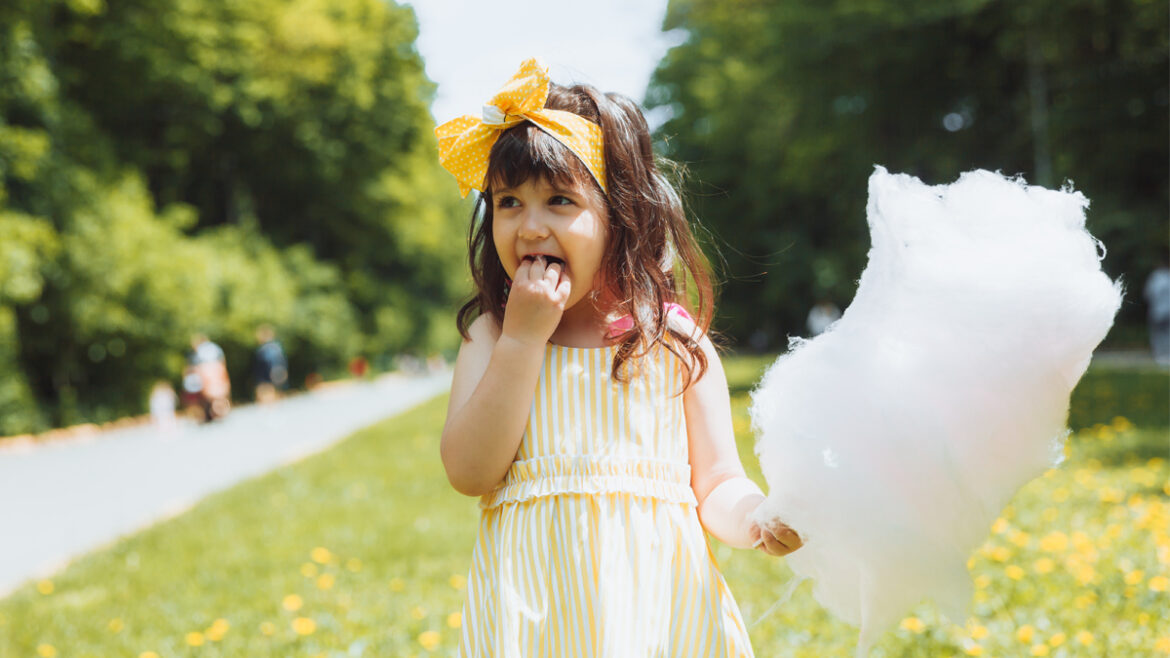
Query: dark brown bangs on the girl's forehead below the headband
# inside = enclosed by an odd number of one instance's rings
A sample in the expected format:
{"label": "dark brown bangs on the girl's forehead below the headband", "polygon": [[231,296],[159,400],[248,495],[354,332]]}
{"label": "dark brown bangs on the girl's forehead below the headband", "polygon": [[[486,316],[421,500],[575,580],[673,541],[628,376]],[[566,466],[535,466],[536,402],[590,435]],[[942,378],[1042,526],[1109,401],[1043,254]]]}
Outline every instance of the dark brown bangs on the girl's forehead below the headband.
{"label": "dark brown bangs on the girl's forehead below the headband", "polygon": [[491,146],[488,163],[489,191],[516,189],[528,180],[544,180],[564,190],[580,186],[605,198],[585,163],[567,146],[529,122],[505,130]]}

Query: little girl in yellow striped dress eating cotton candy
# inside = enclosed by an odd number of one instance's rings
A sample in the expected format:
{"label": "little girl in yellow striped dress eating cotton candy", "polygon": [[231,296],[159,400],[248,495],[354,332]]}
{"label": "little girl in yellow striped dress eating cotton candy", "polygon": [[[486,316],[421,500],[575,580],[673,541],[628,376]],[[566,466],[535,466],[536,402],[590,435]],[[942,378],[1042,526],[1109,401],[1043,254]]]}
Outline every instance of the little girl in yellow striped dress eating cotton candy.
{"label": "little girl in yellow striped dress eating cotton candy", "polygon": [[749,521],[764,495],[706,335],[706,261],[641,111],[529,60],[435,132],[480,191],[441,440],[482,508],[460,656],[751,656],[703,529],[770,555],[800,540]]}

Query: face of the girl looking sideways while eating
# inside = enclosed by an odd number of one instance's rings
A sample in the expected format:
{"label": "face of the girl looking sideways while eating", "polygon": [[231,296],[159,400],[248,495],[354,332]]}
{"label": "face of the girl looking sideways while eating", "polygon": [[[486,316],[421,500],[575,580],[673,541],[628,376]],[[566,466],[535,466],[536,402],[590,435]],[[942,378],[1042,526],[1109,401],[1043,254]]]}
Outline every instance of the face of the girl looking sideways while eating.
{"label": "face of the girl looking sideways while eating", "polygon": [[491,196],[491,237],[510,279],[521,262],[539,254],[562,262],[562,280],[570,285],[566,309],[600,288],[608,219],[592,191],[530,179],[518,187],[493,189]]}

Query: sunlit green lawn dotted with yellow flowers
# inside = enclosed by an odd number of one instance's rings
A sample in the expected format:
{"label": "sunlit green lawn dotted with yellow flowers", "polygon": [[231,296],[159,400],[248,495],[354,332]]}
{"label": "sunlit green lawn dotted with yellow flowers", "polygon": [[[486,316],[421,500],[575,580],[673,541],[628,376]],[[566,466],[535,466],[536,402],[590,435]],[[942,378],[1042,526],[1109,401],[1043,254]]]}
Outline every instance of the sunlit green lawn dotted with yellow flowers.
{"label": "sunlit green lawn dotted with yellow flowers", "polygon": [[[745,404],[769,361],[725,362],[759,481]],[[950,625],[924,604],[873,656],[1170,654],[1168,398],[1164,373],[1090,370],[1067,462],[1020,491],[972,555],[973,617]],[[445,409],[427,403],[27,584],[0,601],[0,656],[452,654],[477,509],[439,462]],[[808,583],[760,619],[783,560],[713,547],[758,656],[852,656],[855,631]]]}

